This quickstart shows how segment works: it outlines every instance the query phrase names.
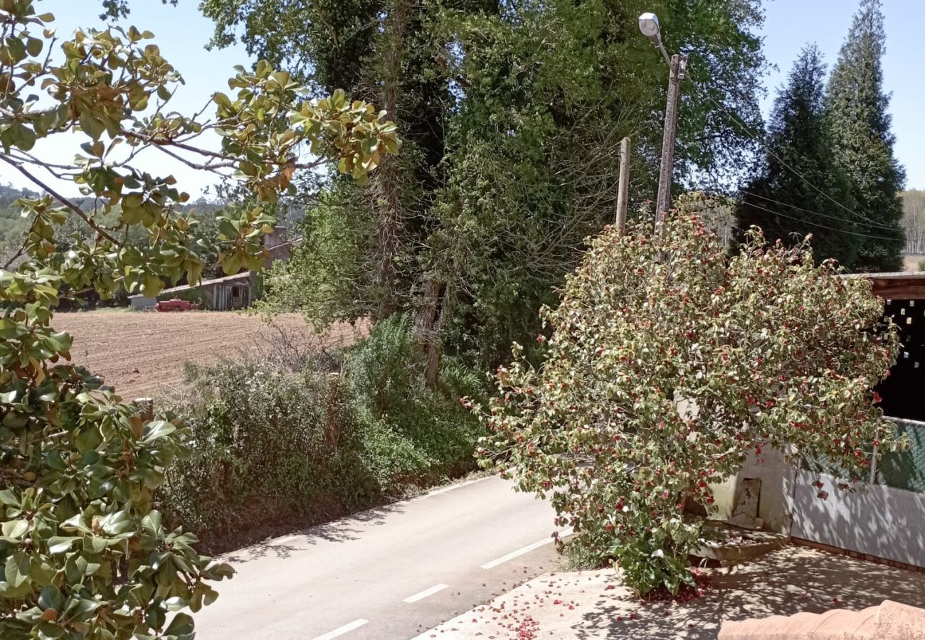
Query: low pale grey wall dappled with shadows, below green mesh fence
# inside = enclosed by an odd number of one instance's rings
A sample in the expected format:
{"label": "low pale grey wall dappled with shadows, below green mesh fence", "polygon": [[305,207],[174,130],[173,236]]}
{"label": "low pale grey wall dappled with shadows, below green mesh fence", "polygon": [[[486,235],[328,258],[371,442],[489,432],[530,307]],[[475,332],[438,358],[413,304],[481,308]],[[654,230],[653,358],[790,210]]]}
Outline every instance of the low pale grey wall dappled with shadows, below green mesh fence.
{"label": "low pale grey wall dappled with shadows, below green mesh fence", "polygon": [[[812,486],[817,479],[821,489]],[[838,482],[798,472],[793,537],[925,567],[925,494],[863,483],[845,492]],[[828,498],[819,498],[820,490]]]}

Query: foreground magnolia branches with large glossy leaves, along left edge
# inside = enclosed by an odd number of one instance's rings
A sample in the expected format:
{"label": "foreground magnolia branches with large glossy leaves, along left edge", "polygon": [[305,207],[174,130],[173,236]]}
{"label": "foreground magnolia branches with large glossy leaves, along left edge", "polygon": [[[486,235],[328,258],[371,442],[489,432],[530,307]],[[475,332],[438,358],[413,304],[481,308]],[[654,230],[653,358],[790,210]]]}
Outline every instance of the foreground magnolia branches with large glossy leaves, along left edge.
{"label": "foreground magnolia branches with large glossy leaves, along left edge", "polygon": [[[295,172],[315,166],[363,180],[399,141],[371,105],[342,92],[308,100],[265,63],[237,68],[231,94],[210,102],[213,117],[169,112],[181,78],[151,33],[59,41],[53,19],[31,0],[0,3],[0,161],[44,191],[21,201],[31,227],[0,270],[0,637],[188,638],[183,609],[212,602],[210,582],[231,569],[197,554],[195,538],[167,530],[153,509],[181,452],[179,425],[70,363],[71,338],[52,328],[52,314],[89,289],[152,296],[181,277],[196,282],[216,242],[228,274],[263,263],[261,236],[274,220],[262,206],[223,218],[221,235],[204,239],[177,209],[188,196],[176,180],[135,167],[142,151],[235,172],[255,203],[273,203]],[[208,131],[220,145],[197,142]],[[37,154],[49,138],[82,140],[82,154],[74,163]],[[56,191],[53,178],[76,183],[81,197]],[[53,232],[70,218],[93,240],[75,236],[62,252]],[[150,240],[142,249],[129,244],[130,228]]]}

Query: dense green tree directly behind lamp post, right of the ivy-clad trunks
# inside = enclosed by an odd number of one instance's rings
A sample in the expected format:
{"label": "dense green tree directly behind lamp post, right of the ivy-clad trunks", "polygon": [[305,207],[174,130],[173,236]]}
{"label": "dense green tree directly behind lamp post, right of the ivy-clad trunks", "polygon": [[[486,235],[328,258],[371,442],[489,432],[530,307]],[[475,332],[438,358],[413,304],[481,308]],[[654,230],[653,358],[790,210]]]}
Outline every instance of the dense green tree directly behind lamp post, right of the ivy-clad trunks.
{"label": "dense green tree directly behind lamp post, right of the ivy-clad trunks", "polygon": [[667,71],[639,35],[645,10],[659,13],[669,49],[690,56],[677,178],[742,163],[751,141],[727,111],[760,126],[758,3],[563,0],[444,14],[464,97],[428,258],[446,283],[448,347],[483,366],[513,340],[529,344],[586,237],[613,220],[623,136],[635,146],[635,202],[654,196]]}

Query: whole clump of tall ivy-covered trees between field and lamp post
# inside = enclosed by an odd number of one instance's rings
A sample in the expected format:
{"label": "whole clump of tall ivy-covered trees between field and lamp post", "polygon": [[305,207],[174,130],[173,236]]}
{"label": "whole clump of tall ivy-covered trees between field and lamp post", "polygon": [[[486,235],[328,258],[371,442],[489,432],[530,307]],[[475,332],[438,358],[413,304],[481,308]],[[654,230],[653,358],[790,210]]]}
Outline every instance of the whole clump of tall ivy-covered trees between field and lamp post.
{"label": "whole clump of tall ivy-covered trees between field and lamp post", "polygon": [[[637,191],[653,189],[666,72],[636,28],[644,5],[206,0],[216,45],[240,39],[321,85],[342,75],[390,113],[399,90],[401,160],[369,187],[330,185],[271,298],[321,324],[412,313],[431,362],[499,362],[611,220],[624,135]],[[759,3],[657,5],[669,45],[692,56],[678,175],[722,173],[751,142],[712,101],[760,123]]]}

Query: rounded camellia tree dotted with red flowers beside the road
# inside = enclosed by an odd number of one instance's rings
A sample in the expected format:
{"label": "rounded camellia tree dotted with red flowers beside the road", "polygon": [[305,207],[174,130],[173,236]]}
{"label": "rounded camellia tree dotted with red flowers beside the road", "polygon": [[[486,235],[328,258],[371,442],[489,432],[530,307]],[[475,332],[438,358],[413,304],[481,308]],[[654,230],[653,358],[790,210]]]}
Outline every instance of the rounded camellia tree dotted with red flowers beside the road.
{"label": "rounded camellia tree dotted with red flowers beside the road", "polygon": [[475,407],[491,427],[480,462],[551,496],[557,523],[637,592],[677,593],[702,537],[685,500],[712,511],[710,485],[746,454],[781,447],[861,474],[872,444],[894,446],[872,391],[894,327],[865,278],[836,273],[808,240],[769,246],[758,228],[730,258],[697,215],[654,237],[606,230],[542,312],[545,362],[515,345],[498,397]]}

